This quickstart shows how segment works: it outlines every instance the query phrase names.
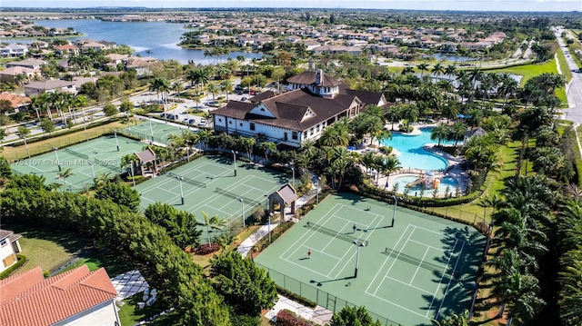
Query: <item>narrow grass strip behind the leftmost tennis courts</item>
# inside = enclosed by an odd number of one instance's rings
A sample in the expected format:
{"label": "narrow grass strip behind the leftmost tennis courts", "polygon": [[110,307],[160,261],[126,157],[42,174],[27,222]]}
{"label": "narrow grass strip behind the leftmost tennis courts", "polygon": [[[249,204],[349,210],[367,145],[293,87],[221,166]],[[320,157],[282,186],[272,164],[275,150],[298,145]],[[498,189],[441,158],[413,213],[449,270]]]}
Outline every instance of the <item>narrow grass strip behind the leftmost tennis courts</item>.
{"label": "narrow grass strip behind the leftmost tennis courts", "polygon": [[[104,133],[109,133],[114,129],[120,129],[125,127],[126,125],[124,123],[118,121],[103,124],[98,127],[88,128],[87,137],[89,139],[93,139],[101,136]],[[51,137],[49,139],[45,139],[34,143],[30,143],[29,141],[28,151],[30,152],[31,156],[34,156],[39,153],[49,152],[52,147],[63,147],[72,143],[80,143],[84,141],[85,141],[85,130],[83,130],[83,128],[81,127],[75,133],[68,133],[61,136],[55,135],[55,137]],[[3,149],[4,151],[2,152],[2,155],[8,161],[18,160],[26,157],[26,148],[24,144],[19,146],[6,145],[3,147]]]}

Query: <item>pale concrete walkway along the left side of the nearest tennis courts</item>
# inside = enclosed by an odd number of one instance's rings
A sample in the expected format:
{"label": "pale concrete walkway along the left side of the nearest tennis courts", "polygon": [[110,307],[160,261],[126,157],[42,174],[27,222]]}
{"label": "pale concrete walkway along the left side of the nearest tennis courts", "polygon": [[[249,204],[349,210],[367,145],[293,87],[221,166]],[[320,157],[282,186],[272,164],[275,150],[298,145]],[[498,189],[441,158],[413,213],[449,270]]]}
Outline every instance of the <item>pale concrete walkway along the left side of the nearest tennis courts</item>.
{"label": "pale concrete walkway along the left side of the nearest tennis courts", "polygon": [[[311,190],[308,193],[304,194],[303,196],[297,198],[296,209],[301,208],[309,200],[316,196],[317,193],[316,183],[311,184],[312,184]],[[286,207],[284,221],[297,222],[296,217],[293,214],[291,214],[291,207]],[[236,248],[236,252],[240,252],[240,254],[242,254],[243,257],[246,257],[248,255],[248,252],[250,252],[251,249],[253,249],[256,242],[259,242],[261,239],[263,239],[263,237],[267,236],[269,229],[271,230],[275,229],[278,225],[279,223],[272,223],[269,226],[267,223],[261,226],[256,230],[256,232],[251,234],[248,238],[246,238],[244,242],[242,242]],[[315,309],[311,309],[302,304],[297,303],[296,301],[292,301],[291,299],[278,295],[278,300],[276,301],[275,307],[273,307],[273,309],[271,309],[270,311],[266,312],[265,317],[268,320],[272,320],[273,317],[275,317],[279,311],[284,309],[288,311],[293,311],[297,315],[305,318],[306,320],[313,321],[319,325],[328,324],[329,321],[331,320],[331,317],[334,314],[332,311],[328,311],[323,307],[317,306]]]}

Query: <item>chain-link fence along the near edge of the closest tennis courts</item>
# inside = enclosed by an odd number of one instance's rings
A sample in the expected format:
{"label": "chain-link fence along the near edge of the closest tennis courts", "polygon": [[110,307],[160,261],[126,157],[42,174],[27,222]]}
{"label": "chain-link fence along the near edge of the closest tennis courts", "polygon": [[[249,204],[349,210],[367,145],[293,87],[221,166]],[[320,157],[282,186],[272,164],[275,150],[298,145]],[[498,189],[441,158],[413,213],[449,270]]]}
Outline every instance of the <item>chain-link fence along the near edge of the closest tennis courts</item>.
{"label": "chain-link fence along the near edge of the closest tennis courts", "polygon": [[[269,273],[271,280],[276,282],[276,284],[281,288],[285,289],[286,291],[296,293],[309,301],[316,302],[317,305],[326,308],[328,311],[339,312],[346,307],[357,306],[356,304],[338,298],[333,294],[329,294],[326,291],[317,289],[312,285],[297,281],[296,279],[289,277],[285,274],[271,270],[268,267],[261,265],[260,263],[257,262],[255,263],[258,267],[264,268],[266,272]],[[396,321],[391,321],[386,317],[380,316],[373,311],[368,311],[368,313],[370,314],[370,316],[372,316],[374,320],[380,321],[380,324],[382,326],[399,325],[399,323],[397,323]]]}

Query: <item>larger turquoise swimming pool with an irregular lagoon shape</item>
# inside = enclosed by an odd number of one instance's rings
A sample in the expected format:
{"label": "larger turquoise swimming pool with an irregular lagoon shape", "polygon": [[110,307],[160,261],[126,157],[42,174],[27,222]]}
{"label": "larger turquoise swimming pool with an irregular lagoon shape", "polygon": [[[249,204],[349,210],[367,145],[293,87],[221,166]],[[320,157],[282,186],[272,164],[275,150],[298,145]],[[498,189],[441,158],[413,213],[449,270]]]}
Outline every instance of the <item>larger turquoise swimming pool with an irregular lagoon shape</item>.
{"label": "larger turquoise swimming pool with an irregular lagoon shape", "polygon": [[426,143],[437,143],[430,139],[431,130],[432,128],[420,128],[421,133],[414,135],[395,133],[392,135],[392,139],[384,140],[382,145],[392,146],[401,153],[398,156],[398,160],[403,168],[421,170],[445,169],[448,165],[445,159],[422,148]]}

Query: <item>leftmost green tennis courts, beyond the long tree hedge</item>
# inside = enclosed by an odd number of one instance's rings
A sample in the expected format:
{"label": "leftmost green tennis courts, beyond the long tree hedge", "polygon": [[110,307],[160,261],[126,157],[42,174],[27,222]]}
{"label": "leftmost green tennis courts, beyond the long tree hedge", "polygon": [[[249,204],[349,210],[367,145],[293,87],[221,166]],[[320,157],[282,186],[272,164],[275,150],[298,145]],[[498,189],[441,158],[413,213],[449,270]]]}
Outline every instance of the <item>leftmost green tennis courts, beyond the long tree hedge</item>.
{"label": "leftmost green tennis courts, beyond the long tree hedge", "polygon": [[[46,184],[65,184],[66,191],[76,193],[91,187],[94,175],[122,173],[121,158],[127,154],[141,152],[143,146],[144,143],[119,135],[116,141],[114,136],[103,136],[36,155],[30,159],[18,160],[10,166],[16,174],[43,175]],[[71,169],[73,174],[65,180],[58,178],[59,165],[62,171]]]}

